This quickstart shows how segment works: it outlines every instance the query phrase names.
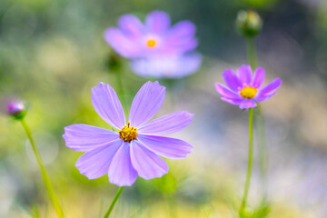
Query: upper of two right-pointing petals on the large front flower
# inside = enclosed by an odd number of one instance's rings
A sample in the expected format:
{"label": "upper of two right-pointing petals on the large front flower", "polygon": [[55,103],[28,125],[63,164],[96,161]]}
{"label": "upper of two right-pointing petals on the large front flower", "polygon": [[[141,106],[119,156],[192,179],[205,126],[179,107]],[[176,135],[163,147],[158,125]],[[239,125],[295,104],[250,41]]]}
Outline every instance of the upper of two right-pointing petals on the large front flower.
{"label": "upper of two right-pointing petals on the large front flower", "polygon": [[138,134],[173,134],[192,122],[194,114],[187,111],[167,114],[140,126]]}

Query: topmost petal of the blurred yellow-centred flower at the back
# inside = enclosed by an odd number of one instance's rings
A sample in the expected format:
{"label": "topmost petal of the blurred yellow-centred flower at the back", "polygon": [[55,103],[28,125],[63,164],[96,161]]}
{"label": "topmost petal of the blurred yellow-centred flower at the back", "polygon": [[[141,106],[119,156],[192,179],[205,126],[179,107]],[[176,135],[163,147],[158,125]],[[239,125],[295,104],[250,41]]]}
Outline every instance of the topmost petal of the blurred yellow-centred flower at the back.
{"label": "topmost petal of the blurred yellow-centred flower at the back", "polygon": [[170,17],[163,11],[154,11],[146,16],[145,25],[152,33],[162,33],[170,25]]}

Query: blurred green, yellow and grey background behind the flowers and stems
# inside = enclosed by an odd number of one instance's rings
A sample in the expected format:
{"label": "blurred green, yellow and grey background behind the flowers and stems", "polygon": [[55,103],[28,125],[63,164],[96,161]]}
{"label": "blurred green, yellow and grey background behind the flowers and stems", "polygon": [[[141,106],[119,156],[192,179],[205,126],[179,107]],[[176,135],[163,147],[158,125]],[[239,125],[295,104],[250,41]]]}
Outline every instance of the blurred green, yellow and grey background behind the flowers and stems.
{"label": "blurred green, yellow and grey background behind the flowers and stems", "polygon": [[[196,114],[173,136],[193,144],[186,159],[168,160],[170,173],[124,189],[114,217],[236,217],[247,167],[248,114],[224,103],[213,82],[245,64],[245,42],[235,31],[242,9],[263,17],[256,38],[266,83],[282,78],[264,102],[272,218],[327,217],[327,2],[324,0],[1,0],[0,97],[30,105],[26,121],[67,217],[102,217],[117,187],[107,176],[88,180],[74,167],[82,153],[64,146],[64,126],[107,127],[90,90],[100,81],[117,88],[108,67],[114,54],[104,29],[120,15],[143,18],[154,9],[173,24],[197,26],[203,66],[173,82],[157,116]],[[122,59],[125,107],[146,81]],[[161,84],[166,84],[161,81]],[[171,83],[170,83],[171,84]],[[256,146],[256,144],[255,144]],[[249,203],[261,199],[257,150]],[[37,215],[38,214],[38,215]],[[0,116],[0,217],[56,217],[35,157],[18,122]]]}

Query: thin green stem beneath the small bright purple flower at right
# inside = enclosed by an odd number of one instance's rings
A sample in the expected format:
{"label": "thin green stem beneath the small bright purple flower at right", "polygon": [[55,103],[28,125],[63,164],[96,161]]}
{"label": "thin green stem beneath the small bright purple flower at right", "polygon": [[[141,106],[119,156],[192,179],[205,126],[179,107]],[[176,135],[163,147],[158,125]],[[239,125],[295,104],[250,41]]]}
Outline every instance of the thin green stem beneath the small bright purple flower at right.
{"label": "thin green stem beneath the small bright purple flower at right", "polygon": [[253,108],[249,108],[249,161],[244,186],[243,200],[239,210],[240,217],[243,217],[243,211],[246,206],[247,195],[250,187],[250,180],[253,170]]}

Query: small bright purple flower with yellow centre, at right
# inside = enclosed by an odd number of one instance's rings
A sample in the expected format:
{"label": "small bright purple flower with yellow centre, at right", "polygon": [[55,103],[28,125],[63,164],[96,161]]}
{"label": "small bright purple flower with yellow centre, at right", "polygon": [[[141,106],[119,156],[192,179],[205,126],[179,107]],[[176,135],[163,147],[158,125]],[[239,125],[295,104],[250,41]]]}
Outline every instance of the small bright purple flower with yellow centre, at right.
{"label": "small bright purple flower with yellow centre, at right", "polygon": [[253,75],[251,66],[242,65],[237,69],[237,74],[232,69],[223,72],[223,81],[228,87],[219,83],[216,83],[215,87],[217,92],[222,94],[223,101],[240,105],[241,109],[248,109],[254,108],[256,102],[263,102],[277,94],[274,91],[282,84],[282,80],[276,78],[270,84],[262,87],[263,80],[263,67],[258,67]]}

